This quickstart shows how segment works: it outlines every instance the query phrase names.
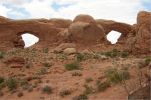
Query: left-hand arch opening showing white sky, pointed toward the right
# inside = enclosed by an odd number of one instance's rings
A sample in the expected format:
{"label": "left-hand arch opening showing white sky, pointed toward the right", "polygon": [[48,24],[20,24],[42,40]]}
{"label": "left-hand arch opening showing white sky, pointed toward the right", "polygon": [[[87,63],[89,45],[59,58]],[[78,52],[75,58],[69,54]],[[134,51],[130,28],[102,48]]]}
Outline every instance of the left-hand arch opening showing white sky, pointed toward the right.
{"label": "left-hand arch opening showing white sky, pointed toward the right", "polygon": [[21,35],[25,43],[24,48],[31,47],[39,41],[39,38],[30,33],[24,33]]}

